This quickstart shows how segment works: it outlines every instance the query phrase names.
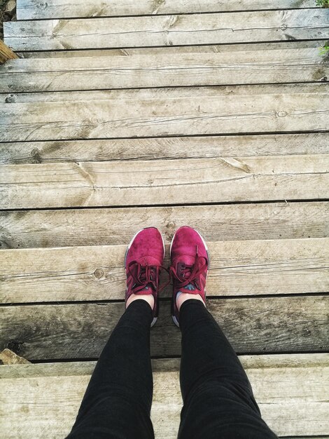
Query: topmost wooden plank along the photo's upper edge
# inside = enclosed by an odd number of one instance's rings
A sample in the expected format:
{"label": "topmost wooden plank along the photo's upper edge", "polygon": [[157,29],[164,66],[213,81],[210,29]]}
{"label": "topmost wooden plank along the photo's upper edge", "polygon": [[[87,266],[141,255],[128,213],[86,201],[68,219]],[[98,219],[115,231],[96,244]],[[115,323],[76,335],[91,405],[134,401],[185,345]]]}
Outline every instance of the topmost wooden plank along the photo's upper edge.
{"label": "topmost wooden plank along the photo's upper edge", "polygon": [[222,11],[255,11],[262,9],[312,8],[314,1],[277,0],[18,0],[18,20],[42,20],[44,18],[111,17],[116,15],[156,15],[177,13],[201,13]]}

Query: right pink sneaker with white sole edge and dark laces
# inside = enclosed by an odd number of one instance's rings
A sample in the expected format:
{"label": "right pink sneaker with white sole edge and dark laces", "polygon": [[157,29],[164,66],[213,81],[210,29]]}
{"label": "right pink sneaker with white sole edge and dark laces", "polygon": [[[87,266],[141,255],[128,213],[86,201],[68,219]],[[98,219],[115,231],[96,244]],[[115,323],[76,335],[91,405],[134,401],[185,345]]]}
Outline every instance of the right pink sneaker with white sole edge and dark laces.
{"label": "right pink sneaker with white sole edge and dark laces", "polygon": [[181,292],[200,295],[206,304],[206,280],[209,270],[209,254],[202,236],[192,227],[183,226],[176,231],[170,247],[173,280],[172,318],[179,326],[179,310],[176,297]]}

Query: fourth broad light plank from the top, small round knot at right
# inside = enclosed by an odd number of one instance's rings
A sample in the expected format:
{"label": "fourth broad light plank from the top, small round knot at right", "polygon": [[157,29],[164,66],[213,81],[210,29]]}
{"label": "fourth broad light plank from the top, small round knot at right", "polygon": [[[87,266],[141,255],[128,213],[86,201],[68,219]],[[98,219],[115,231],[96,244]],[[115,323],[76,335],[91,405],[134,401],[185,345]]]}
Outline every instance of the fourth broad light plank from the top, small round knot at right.
{"label": "fourth broad light plank from the top, small round knot at right", "polygon": [[[328,130],[328,88],[317,85],[317,93],[307,93],[311,89],[306,85],[304,93],[283,93],[283,88],[282,94],[261,94],[265,90],[255,88],[246,95],[216,88],[196,89],[193,95],[191,90],[173,88],[166,97],[131,100],[136,93],[113,90],[113,99],[98,100],[97,92],[92,92],[94,100],[88,101],[0,104],[0,142],[324,131]],[[149,90],[137,91],[147,96]],[[165,94],[164,89],[151,90],[151,96]],[[74,92],[64,92],[59,99],[70,93],[73,99]],[[119,93],[121,99],[116,100]]]}

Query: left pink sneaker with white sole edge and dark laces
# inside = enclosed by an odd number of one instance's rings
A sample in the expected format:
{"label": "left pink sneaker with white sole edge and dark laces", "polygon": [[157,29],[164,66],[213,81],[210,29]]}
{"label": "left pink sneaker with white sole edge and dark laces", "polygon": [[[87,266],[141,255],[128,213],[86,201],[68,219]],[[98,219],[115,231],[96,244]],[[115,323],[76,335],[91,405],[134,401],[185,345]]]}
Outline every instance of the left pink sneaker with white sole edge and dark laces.
{"label": "left pink sneaker with white sole edge and dark laces", "polygon": [[132,294],[153,295],[153,322],[159,312],[159,277],[165,257],[165,243],[158,229],[148,227],[139,231],[128,245],[125,255],[127,290],[125,302]]}

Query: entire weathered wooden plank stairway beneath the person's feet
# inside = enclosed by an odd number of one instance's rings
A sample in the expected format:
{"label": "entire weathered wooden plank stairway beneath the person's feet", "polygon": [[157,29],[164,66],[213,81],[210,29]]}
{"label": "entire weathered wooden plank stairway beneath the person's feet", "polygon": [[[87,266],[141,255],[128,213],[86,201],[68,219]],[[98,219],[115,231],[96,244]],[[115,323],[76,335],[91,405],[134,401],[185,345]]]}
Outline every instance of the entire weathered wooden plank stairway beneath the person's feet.
{"label": "entire weathered wooden plank stairway beneath the person's feet", "polygon": [[[0,438],[64,438],[155,225],[209,243],[208,306],[281,438],[329,438],[329,10],[313,0],[18,1],[0,67]],[[168,264],[168,259],[166,259]],[[179,426],[170,288],[156,438]]]}

